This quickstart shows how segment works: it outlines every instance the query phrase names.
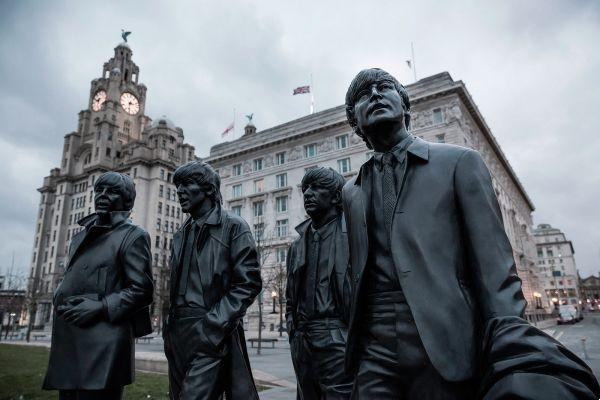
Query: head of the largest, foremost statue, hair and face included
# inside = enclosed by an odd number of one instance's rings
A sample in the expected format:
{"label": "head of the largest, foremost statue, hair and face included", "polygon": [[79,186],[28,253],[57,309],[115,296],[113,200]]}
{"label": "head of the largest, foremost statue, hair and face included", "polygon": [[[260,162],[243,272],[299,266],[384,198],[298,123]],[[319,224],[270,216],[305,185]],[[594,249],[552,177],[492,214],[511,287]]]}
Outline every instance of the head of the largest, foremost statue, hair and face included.
{"label": "head of the largest, foremost statue, hair and face included", "polygon": [[404,86],[379,68],[363,69],[346,92],[346,117],[354,132],[372,149],[370,128],[385,122],[400,121],[410,126],[410,100]]}

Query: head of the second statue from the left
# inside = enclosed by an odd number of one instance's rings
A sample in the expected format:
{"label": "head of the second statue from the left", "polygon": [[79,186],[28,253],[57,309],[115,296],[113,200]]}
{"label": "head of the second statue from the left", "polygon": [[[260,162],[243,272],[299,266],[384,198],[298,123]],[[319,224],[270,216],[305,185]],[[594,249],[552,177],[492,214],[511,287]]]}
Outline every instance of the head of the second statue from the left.
{"label": "head of the second statue from the left", "polygon": [[221,179],[215,170],[202,161],[190,161],[175,170],[173,183],[181,209],[194,213],[205,201],[221,204]]}

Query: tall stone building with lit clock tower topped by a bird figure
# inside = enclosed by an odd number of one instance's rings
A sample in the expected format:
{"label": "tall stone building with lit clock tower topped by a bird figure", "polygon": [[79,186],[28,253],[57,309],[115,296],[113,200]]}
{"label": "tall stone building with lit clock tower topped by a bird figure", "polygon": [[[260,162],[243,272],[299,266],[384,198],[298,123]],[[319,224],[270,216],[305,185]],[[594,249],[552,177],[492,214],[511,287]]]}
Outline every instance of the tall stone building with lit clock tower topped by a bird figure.
{"label": "tall stone building with lit clock tower topped by a bird figure", "polygon": [[178,165],[195,159],[194,147],[184,143],[183,130],[169,119],[153,122],[145,115],[146,86],[138,82],[131,56],[128,44],[119,44],[102,75],[92,80],[77,130],[64,137],[60,167],[38,189],[27,292],[36,327],[50,322],[52,293],[65,272],[70,240],[83,229],[77,221],[93,212],[94,181],[108,170],[127,173],[135,182],[131,218],[152,238],[155,307],[166,296],[169,248],[183,221],[171,178]]}

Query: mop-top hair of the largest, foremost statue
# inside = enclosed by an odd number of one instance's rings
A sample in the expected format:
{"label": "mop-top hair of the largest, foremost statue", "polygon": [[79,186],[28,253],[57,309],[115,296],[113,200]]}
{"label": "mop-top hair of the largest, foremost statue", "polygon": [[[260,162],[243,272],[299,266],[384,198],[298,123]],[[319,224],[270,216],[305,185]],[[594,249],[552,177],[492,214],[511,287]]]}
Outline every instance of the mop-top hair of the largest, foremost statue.
{"label": "mop-top hair of the largest, foremost statue", "polygon": [[390,81],[394,84],[396,91],[398,91],[398,94],[402,98],[404,106],[404,126],[406,129],[409,129],[410,127],[410,99],[408,98],[408,92],[404,86],[402,86],[396,78],[382,69],[363,69],[354,77],[346,92],[346,118],[352,129],[354,129],[354,132],[364,140],[369,149],[372,149],[373,147],[357,125],[356,116],[354,115],[354,104],[356,103],[356,100],[358,100],[356,97],[363,89],[380,81]]}

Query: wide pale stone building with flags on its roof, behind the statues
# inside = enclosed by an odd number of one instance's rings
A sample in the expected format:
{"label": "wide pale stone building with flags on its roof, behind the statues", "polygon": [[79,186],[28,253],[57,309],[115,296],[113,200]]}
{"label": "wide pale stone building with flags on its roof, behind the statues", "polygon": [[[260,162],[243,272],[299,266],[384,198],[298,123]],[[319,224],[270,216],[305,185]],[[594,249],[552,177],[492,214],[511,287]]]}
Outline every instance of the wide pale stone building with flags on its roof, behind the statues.
{"label": "wide pale stone building with flags on its roof, behind the statues", "polygon": [[[531,213],[534,206],[492,135],[467,88],[443,72],[408,85],[412,133],[432,142],[478,150],[488,165],[513,247],[528,314],[543,312],[545,293],[535,265]],[[280,296],[281,266],[306,215],[300,180],[314,166],[328,166],[346,178],[371,157],[346,121],[344,106],[330,108],[257,132],[249,124],[242,137],[213,146],[205,158],[222,178],[225,207],[245,218],[262,237],[265,289]],[[432,301],[443,299],[432,299]],[[264,301],[270,304],[270,299]]]}

